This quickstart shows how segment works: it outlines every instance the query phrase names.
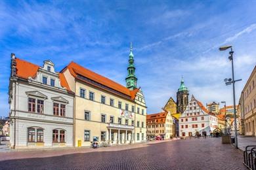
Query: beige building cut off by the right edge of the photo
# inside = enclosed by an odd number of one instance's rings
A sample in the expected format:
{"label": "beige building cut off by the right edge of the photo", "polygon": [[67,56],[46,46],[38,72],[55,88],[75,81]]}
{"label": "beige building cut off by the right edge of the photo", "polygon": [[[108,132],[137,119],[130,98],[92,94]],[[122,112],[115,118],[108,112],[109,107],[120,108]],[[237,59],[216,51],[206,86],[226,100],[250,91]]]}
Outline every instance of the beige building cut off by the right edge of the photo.
{"label": "beige building cut off by the right edge of the photo", "polygon": [[243,135],[256,135],[256,66],[240,95],[238,115]]}

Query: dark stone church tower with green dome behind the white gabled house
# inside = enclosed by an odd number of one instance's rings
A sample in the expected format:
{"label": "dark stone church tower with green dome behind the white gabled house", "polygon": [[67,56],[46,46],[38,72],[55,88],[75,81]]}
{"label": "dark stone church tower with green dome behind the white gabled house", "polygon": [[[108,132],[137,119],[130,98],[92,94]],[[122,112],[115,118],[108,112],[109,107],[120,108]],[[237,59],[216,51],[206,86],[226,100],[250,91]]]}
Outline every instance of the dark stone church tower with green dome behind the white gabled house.
{"label": "dark stone church tower with green dome behind the white gabled house", "polygon": [[182,113],[188,105],[188,88],[184,85],[183,77],[181,78],[181,86],[177,92],[177,112]]}

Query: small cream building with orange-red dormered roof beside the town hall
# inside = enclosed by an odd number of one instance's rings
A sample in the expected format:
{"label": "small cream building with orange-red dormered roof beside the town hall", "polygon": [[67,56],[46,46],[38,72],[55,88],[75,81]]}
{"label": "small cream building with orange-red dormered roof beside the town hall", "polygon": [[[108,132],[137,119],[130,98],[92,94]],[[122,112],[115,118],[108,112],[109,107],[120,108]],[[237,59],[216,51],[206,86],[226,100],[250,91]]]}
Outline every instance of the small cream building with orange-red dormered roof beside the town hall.
{"label": "small cream building with orange-red dormered roof beside the town hall", "polygon": [[161,137],[171,139],[175,136],[173,129],[173,117],[170,112],[164,111],[146,116],[147,139]]}

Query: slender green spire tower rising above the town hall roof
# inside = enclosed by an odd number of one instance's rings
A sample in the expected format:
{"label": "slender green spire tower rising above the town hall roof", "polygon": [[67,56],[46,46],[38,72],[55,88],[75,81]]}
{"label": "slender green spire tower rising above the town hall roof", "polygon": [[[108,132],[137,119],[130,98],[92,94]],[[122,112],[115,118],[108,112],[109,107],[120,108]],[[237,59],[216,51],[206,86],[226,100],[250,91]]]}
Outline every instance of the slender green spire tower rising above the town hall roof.
{"label": "slender green spire tower rising above the town hall roof", "polygon": [[125,78],[126,87],[130,90],[137,88],[137,77],[135,76],[135,66],[133,59],[133,46],[131,44],[130,54],[129,54],[129,66],[127,67],[128,75]]}

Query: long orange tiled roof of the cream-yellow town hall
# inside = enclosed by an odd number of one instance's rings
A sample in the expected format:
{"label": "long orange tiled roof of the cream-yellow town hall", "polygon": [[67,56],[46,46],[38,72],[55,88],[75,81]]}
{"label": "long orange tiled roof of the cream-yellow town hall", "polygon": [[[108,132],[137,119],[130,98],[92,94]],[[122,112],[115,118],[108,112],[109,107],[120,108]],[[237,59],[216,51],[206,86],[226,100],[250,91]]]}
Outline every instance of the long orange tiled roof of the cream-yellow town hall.
{"label": "long orange tiled roof of the cream-yellow town hall", "polygon": [[113,80],[110,80],[109,78],[106,78],[102,75],[98,75],[97,73],[86,69],[85,67],[82,67],[81,65],[75,63],[72,61],[68,66],[68,70],[70,71],[71,75],[75,78],[77,75],[85,76],[86,78],[89,78],[95,82],[98,82],[104,86],[107,86],[108,88],[112,88],[113,90],[116,90],[117,92],[121,92],[125,95],[128,95],[131,97],[131,99],[135,99],[136,93],[139,92],[139,89],[135,90],[129,90],[125,86],[122,86],[121,84],[118,84],[117,82],[114,82]]}

